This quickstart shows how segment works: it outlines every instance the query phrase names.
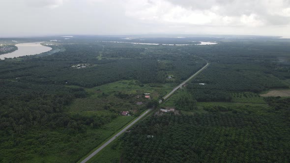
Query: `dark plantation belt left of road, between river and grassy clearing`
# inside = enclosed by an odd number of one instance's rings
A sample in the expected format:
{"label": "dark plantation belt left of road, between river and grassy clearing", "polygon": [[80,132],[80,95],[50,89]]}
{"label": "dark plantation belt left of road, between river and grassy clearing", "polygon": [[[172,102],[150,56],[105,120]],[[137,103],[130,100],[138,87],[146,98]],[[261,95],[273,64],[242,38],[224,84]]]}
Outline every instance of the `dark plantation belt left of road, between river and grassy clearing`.
{"label": "dark plantation belt left of road, between river and grassy clearing", "polygon": [[[22,62],[14,59],[0,61],[0,79],[17,78],[17,81],[40,84],[94,87],[127,79],[139,80],[142,83],[166,82],[168,73],[171,72],[174,74],[174,82],[179,82],[204,65],[204,61],[198,57],[188,54],[174,56],[171,50],[172,54],[167,54],[165,53],[167,50],[163,48],[160,49],[160,53],[151,54],[151,51],[144,52],[145,49],[139,47],[105,47],[104,52],[103,46],[99,44],[74,44],[63,47],[66,49],[64,52],[43,57],[27,56]],[[97,57],[100,52],[104,57],[101,60]],[[174,61],[173,63],[158,61],[158,58],[160,60],[163,58],[161,56]],[[86,65],[86,68],[71,67],[77,64]],[[160,66],[162,64],[165,66]]]}

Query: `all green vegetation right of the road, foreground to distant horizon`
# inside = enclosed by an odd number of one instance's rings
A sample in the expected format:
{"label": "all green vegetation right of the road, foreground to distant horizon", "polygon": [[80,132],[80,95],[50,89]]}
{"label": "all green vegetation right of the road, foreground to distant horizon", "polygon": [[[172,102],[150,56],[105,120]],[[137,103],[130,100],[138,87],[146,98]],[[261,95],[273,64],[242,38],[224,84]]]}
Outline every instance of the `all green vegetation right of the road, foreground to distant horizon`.
{"label": "all green vegetation right of the road, foreground to distant horizon", "polygon": [[[162,105],[175,106],[181,115],[157,114],[125,134],[120,159],[289,162],[290,99],[263,100],[258,94],[289,88],[289,42],[239,40],[181,51],[211,64]],[[196,99],[198,107],[187,109],[183,94]]]}

